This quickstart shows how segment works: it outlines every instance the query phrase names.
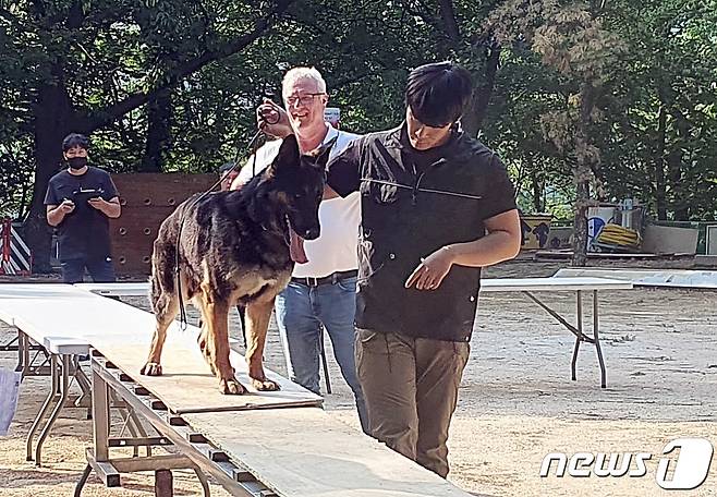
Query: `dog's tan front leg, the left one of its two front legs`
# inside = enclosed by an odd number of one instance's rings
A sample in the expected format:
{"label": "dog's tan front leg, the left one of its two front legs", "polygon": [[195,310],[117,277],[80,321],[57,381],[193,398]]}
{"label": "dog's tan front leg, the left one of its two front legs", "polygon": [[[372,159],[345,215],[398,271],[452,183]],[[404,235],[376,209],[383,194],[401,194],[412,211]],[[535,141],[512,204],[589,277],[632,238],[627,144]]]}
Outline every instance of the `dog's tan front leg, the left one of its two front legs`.
{"label": "dog's tan front leg, the left one of its two front legs", "polygon": [[[203,350],[212,373],[219,378],[219,390],[228,395],[242,395],[246,388],[234,377],[234,368],[229,361],[229,304],[216,299],[207,284],[202,283],[200,301],[202,319],[204,322]],[[202,347],[202,340],[199,342]]]}

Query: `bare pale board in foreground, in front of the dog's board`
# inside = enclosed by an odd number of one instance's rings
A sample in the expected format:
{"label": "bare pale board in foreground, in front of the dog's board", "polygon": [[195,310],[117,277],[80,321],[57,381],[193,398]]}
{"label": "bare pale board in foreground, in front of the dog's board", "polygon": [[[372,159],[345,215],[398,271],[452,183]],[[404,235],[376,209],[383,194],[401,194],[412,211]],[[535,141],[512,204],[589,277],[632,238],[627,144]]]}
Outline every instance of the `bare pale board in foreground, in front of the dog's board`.
{"label": "bare pale board in foreground, in front of the dog's board", "polygon": [[183,416],[281,497],[467,497],[316,408]]}

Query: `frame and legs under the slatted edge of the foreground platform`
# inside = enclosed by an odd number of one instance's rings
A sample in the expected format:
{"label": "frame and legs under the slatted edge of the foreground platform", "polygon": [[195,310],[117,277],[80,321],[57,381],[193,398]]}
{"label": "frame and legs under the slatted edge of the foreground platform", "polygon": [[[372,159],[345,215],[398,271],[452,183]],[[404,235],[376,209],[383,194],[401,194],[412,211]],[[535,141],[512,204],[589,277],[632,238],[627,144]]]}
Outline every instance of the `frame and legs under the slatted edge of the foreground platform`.
{"label": "frame and legs under the slatted edge of the foreground platform", "polygon": [[[195,433],[181,416],[169,412],[160,400],[96,351],[93,351],[90,367],[94,448],[87,450],[87,466],[77,482],[75,496],[80,496],[93,471],[106,486],[114,487],[121,485],[120,473],[148,470],[156,472],[156,495],[171,496],[171,473],[168,475],[167,472],[190,468],[202,482],[205,497],[209,495],[205,474],[214,476],[234,496],[276,497],[274,492],[258,482],[241,463],[231,461],[226,452],[210,444],[203,435]],[[110,437],[109,399],[113,395],[159,434],[159,437],[122,439],[124,446],[162,445],[172,447],[179,453],[169,457],[148,454],[146,458],[110,458],[109,449],[120,446]]]}

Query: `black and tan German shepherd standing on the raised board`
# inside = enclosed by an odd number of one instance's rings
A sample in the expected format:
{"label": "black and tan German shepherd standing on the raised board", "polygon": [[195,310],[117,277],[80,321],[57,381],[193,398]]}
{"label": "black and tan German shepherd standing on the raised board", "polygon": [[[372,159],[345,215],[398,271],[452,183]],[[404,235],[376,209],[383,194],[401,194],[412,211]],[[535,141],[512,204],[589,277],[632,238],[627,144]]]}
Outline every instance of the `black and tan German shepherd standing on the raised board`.
{"label": "black and tan German shepherd standing on the raised board", "polygon": [[293,135],[284,138],[274,162],[234,192],[215,192],[182,203],[159,228],[151,257],[151,307],[157,318],[143,375],[162,374],[160,356],[167,328],[179,311],[175,283],[177,239],[182,295],[202,313],[199,349],[222,393],[246,388],[229,362],[228,313],[246,306],[246,363],[257,390],[279,386],[262,364],[274,299],[289,283],[294,262],[290,228],[306,240],[318,238],[318,206],[324,193],[327,148],[301,156]]}

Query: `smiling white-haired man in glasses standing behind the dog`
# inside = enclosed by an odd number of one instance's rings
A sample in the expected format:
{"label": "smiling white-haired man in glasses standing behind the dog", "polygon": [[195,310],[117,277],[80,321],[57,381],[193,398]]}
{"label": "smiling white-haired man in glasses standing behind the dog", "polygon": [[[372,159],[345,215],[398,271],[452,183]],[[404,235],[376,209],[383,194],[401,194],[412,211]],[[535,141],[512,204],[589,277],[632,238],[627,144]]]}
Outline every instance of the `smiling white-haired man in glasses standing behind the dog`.
{"label": "smiling white-haired man in glasses standing behind the dog", "polygon": [[[357,137],[324,120],[329,96],[326,82],[316,69],[291,69],[284,75],[281,93],[288,116],[270,100],[257,109],[259,125],[267,134],[283,137],[293,133],[302,154],[336,138],[329,159]],[[291,129],[285,125],[287,119]],[[280,142],[269,142],[259,148],[244,165],[232,187],[241,187],[270,165]],[[320,337],[325,327],[341,374],[353,390],[361,426],[367,433],[366,407],[354,357],[360,194],[323,202],[318,217],[320,237],[304,241],[303,250],[301,243],[292,243],[296,264],[289,287],[276,301],[287,368],[293,381],[319,392]]]}

